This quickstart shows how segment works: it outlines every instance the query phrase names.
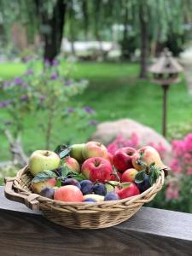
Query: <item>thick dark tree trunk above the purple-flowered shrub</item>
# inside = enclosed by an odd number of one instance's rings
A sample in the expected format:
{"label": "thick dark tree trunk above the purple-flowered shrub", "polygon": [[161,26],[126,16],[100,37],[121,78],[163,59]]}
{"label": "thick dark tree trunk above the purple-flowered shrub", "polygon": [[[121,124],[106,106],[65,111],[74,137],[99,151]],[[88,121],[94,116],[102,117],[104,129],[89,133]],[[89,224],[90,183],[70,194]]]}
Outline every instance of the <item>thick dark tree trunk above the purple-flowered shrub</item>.
{"label": "thick dark tree trunk above the purple-flowered shrub", "polygon": [[66,9],[67,3],[57,0],[52,17],[49,18],[47,12],[42,14],[43,25],[46,28],[43,33],[44,60],[52,61],[60,52]]}

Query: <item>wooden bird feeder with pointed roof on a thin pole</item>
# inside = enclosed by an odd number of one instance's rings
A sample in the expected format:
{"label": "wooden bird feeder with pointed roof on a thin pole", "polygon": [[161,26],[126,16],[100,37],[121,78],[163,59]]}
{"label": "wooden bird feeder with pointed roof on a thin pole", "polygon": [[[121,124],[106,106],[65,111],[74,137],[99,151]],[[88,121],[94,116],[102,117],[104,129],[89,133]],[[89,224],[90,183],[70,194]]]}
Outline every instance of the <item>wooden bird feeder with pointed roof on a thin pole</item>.
{"label": "wooden bird feeder with pointed roof on a thin pole", "polygon": [[171,84],[179,82],[179,73],[183,71],[177,60],[172,57],[168,49],[164,49],[160,58],[149,67],[149,72],[153,74],[152,82],[159,84],[163,89],[163,125],[162,133],[166,137],[166,102],[167,91]]}

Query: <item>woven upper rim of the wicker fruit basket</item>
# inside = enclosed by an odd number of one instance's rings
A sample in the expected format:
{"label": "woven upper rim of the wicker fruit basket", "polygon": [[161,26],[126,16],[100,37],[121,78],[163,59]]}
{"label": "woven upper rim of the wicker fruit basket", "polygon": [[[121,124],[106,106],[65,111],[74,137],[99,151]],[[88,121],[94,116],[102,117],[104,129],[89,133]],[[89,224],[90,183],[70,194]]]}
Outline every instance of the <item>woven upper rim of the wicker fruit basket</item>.
{"label": "woven upper rim of the wicker fruit basket", "polygon": [[[29,172],[29,167],[28,166],[25,166],[24,168],[20,169],[19,172],[17,172],[17,175],[16,177],[14,178],[14,188],[19,190],[21,194],[23,195],[37,195],[36,197],[36,200],[39,201],[39,203],[44,203],[44,202],[48,202],[49,204],[53,204],[55,206],[60,206],[60,207],[80,207],[80,206],[87,206],[89,205],[90,207],[91,206],[102,206],[102,205],[107,205],[108,206],[113,206],[113,205],[117,205],[117,204],[122,204],[122,203],[129,203],[129,204],[132,204],[134,203],[135,201],[138,201],[138,200],[141,200],[141,201],[144,201],[144,202],[148,202],[148,201],[151,201],[151,200],[147,200],[145,201],[145,197],[146,195],[151,194],[152,195],[156,195],[158,191],[160,191],[160,189],[162,188],[163,184],[164,184],[164,179],[165,179],[165,174],[164,174],[164,171],[163,169],[160,170],[160,177],[158,177],[158,179],[156,180],[156,183],[154,183],[149,189],[145,190],[143,193],[139,194],[139,195],[134,195],[134,196],[131,196],[131,197],[127,197],[125,199],[121,199],[121,200],[117,200],[117,201],[99,201],[99,202],[63,202],[63,201],[56,201],[54,199],[49,199],[47,197],[44,197],[42,195],[38,195],[38,194],[35,194],[35,193],[32,193],[31,191],[27,191],[26,189],[21,189],[19,186],[18,186],[18,183],[20,183],[20,177],[22,177],[23,174],[25,174],[26,172]],[[161,184],[161,186],[160,186]],[[158,189],[160,187],[160,189]],[[154,193],[153,193],[154,191]],[[16,192],[18,194],[20,194],[19,192]],[[143,203],[144,203],[143,202]]]}

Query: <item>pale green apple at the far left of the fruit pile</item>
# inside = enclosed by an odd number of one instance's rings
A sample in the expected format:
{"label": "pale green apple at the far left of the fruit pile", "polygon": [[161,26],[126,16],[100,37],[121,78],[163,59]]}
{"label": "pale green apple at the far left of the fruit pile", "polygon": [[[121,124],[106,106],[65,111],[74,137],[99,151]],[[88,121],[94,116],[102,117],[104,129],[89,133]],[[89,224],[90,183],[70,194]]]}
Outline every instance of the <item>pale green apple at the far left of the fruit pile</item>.
{"label": "pale green apple at the far left of the fruit pile", "polygon": [[60,166],[60,157],[53,151],[36,150],[29,158],[29,169],[32,176],[35,177],[44,170],[55,170]]}

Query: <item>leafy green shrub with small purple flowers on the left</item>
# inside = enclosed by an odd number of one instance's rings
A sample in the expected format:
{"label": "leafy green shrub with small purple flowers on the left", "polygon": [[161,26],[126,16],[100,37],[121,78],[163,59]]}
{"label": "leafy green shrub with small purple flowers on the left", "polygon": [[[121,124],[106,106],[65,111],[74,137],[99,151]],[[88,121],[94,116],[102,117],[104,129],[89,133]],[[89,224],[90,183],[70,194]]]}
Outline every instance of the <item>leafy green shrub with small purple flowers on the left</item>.
{"label": "leafy green shrub with small purple flowers on the left", "polygon": [[23,131],[24,121],[30,113],[40,113],[40,118],[36,119],[44,129],[45,148],[49,148],[52,130],[58,119],[73,122],[74,118],[79,118],[90,122],[90,116],[94,113],[91,108],[71,107],[73,96],[83,93],[87,81],[71,79],[72,67],[69,63],[63,64],[61,66],[58,60],[52,63],[45,61],[44,67],[39,67],[37,61],[29,61],[22,76],[3,84],[6,100],[0,102],[0,108],[7,108],[15,137]]}

